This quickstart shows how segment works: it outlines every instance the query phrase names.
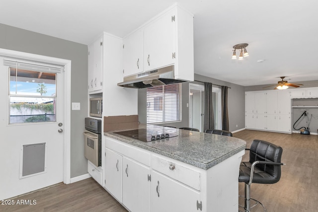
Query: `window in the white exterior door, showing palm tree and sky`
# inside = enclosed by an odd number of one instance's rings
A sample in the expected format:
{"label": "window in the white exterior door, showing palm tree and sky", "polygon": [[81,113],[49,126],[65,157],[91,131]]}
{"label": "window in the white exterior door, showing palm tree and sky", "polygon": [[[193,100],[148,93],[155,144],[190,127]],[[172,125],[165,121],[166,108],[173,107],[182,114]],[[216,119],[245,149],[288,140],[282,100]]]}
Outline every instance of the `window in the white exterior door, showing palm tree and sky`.
{"label": "window in the white exterior door, showing palm tree and sky", "polygon": [[9,124],[56,121],[56,73],[9,68]]}

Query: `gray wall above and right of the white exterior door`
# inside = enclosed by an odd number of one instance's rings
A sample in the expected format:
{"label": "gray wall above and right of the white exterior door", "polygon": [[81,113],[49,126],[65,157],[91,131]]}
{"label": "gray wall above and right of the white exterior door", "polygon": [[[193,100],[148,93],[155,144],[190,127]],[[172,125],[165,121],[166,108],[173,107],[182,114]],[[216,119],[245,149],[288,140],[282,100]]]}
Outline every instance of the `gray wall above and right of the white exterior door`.
{"label": "gray wall above and right of the white exterior door", "polygon": [[71,102],[79,102],[80,110],[71,111],[71,177],[87,173],[82,136],[88,111],[87,46],[0,24],[0,48],[72,61]]}

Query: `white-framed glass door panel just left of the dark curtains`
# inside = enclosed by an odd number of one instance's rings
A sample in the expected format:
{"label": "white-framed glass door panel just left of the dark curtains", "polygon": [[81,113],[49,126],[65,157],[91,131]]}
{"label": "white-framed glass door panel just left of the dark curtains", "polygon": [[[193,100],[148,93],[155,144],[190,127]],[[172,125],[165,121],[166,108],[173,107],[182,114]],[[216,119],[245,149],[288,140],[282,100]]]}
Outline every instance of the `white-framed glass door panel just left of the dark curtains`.
{"label": "white-framed glass door panel just left of the dark curtains", "polygon": [[204,125],[204,86],[189,84],[189,127],[203,132]]}

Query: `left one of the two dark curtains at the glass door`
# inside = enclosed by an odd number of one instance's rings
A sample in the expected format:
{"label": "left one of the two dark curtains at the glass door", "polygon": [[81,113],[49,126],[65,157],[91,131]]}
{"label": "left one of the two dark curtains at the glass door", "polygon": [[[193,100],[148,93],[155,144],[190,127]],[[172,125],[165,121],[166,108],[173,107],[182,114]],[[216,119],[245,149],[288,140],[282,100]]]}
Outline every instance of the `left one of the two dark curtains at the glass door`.
{"label": "left one of the two dark curtains at the glass door", "polygon": [[212,83],[204,82],[204,131],[214,129],[214,114],[212,104]]}

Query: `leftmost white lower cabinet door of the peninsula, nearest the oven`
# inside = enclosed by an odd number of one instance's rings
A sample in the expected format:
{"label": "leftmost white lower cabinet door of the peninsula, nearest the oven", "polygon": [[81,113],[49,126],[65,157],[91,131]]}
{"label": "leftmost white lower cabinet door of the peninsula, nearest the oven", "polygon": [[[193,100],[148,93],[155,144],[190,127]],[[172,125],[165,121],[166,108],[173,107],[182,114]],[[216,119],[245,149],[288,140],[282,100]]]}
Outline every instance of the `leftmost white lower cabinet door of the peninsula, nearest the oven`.
{"label": "leftmost white lower cabinet door of the peninsula, nearest the oven", "polygon": [[105,188],[122,202],[122,156],[105,148]]}

